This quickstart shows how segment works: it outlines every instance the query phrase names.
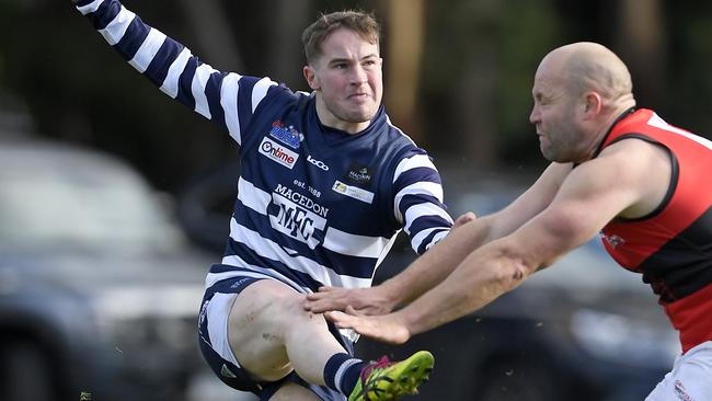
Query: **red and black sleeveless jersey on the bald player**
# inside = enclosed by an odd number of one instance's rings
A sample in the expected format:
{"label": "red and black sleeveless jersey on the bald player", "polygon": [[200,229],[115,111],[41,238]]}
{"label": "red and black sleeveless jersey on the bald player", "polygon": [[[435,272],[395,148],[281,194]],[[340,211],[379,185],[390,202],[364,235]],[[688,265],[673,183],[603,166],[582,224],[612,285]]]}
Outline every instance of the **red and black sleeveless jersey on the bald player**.
{"label": "red and black sleeveless jersey on the bald player", "polygon": [[647,216],[609,222],[604,245],[623,267],[643,274],[686,352],[712,340],[712,141],[642,108],[619,118],[599,151],[629,138],[669,152],[670,185]]}

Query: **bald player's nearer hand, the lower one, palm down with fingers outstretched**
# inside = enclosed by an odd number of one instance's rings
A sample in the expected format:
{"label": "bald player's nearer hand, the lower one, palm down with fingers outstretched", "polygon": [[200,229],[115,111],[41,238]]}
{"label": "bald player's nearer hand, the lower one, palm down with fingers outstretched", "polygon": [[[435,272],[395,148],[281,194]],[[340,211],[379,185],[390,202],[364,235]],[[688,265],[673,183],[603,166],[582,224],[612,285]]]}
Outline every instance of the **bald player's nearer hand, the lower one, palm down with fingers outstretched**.
{"label": "bald player's nearer hand, the lower one, palm down with fingers outstretched", "polygon": [[324,313],[326,319],[340,329],[352,329],[369,339],[389,344],[403,344],[411,337],[407,326],[398,314],[365,316],[352,307],[346,312],[333,311]]}

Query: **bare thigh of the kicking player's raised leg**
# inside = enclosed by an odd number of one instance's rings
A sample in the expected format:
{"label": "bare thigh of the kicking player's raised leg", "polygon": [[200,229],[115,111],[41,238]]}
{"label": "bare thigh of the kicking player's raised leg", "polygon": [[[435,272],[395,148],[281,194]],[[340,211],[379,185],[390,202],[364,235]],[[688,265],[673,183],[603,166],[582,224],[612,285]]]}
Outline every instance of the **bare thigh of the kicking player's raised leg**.
{"label": "bare thigh of the kicking player's raised leg", "polygon": [[286,284],[263,279],[236,298],[228,319],[230,347],[254,378],[275,381],[292,366],[285,346],[286,329],[299,324],[303,295]]}

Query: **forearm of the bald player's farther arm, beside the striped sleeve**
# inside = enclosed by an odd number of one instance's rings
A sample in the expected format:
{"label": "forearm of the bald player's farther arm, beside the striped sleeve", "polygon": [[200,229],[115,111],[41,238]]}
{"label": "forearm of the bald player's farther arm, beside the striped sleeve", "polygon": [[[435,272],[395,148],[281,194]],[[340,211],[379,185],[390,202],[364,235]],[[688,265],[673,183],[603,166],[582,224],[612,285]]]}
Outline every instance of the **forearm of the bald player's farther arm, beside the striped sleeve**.
{"label": "forearm of the bald player's farther arm, beside the striped sleeve", "polygon": [[397,276],[383,282],[394,305],[405,305],[446,279],[476,248],[492,239],[492,218],[483,217],[452,230]]}

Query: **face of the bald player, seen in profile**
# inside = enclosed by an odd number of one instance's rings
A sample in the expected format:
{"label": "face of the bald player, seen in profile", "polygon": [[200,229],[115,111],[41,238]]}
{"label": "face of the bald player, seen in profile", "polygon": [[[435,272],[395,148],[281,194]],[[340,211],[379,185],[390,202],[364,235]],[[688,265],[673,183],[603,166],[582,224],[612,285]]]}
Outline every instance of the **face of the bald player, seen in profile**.
{"label": "face of the bald player, seen in profile", "polygon": [[539,148],[547,160],[579,161],[582,129],[576,115],[578,100],[570,93],[561,73],[548,67],[542,62],[537,70],[529,121],[537,127]]}

